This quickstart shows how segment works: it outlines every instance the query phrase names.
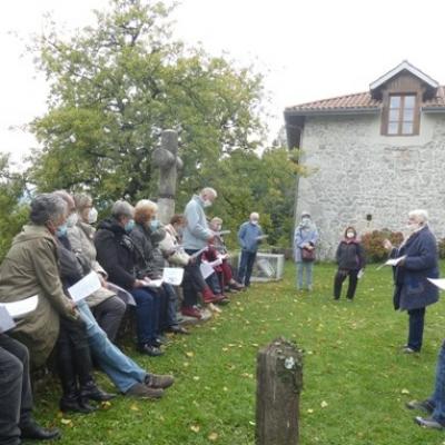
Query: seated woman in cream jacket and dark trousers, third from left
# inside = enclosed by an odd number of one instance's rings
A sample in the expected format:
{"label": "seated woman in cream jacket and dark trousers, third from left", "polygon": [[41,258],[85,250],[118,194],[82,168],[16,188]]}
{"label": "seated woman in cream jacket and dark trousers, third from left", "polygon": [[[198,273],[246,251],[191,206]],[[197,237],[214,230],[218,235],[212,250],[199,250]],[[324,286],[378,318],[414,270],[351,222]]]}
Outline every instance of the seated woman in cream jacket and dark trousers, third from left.
{"label": "seated woman in cream jacket and dark trousers, third from left", "polygon": [[76,214],[68,219],[68,238],[72,250],[81,255],[89,268],[98,273],[102,287],[87,298],[88,306],[98,320],[99,326],[115,342],[120,322],[126,312],[126,304],[111,290],[107,289],[108,274],[97,261],[93,237],[96,229],[90,225],[97,212],[93,211],[92,199],[88,195],[76,195]]}

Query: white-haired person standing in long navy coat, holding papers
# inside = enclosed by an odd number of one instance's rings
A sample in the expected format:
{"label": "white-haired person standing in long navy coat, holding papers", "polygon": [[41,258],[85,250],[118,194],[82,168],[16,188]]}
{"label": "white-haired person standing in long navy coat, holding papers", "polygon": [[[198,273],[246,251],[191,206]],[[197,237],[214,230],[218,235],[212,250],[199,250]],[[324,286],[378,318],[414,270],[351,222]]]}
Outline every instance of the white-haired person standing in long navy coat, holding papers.
{"label": "white-haired person standing in long navy coat, holding papers", "polygon": [[438,289],[427,278],[438,277],[437,241],[428,227],[426,210],[408,214],[408,236],[398,248],[385,239],[384,247],[392,258],[402,258],[394,267],[394,308],[409,315],[408,342],[404,353],[422,349],[425,309],[438,300]]}

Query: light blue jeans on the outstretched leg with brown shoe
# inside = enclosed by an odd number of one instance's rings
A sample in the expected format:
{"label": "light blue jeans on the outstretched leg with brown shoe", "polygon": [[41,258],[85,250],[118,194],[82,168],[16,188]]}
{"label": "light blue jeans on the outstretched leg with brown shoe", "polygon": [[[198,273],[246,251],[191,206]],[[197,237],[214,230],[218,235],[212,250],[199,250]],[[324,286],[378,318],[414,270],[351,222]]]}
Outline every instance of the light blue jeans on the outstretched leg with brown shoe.
{"label": "light blue jeans on the outstretched leg with brown shoe", "polygon": [[147,372],[110,342],[85,300],[80,301],[77,307],[80,317],[87,325],[91,354],[118,389],[126,393],[137,383],[144,383]]}

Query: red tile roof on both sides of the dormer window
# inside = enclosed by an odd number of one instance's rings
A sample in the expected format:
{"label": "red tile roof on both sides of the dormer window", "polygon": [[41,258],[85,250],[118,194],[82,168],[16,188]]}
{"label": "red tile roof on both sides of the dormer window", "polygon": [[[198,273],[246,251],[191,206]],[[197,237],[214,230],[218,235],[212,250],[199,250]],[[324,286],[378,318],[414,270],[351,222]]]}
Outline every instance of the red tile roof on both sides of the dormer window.
{"label": "red tile roof on both sides of the dormer window", "polygon": [[[439,87],[434,98],[424,100],[423,108],[442,108],[445,107],[445,87]],[[382,100],[373,99],[369,91],[357,92],[355,95],[339,96],[330,99],[316,100],[287,107],[285,112],[298,115],[329,112],[329,111],[357,111],[360,110],[378,110],[382,108]]]}

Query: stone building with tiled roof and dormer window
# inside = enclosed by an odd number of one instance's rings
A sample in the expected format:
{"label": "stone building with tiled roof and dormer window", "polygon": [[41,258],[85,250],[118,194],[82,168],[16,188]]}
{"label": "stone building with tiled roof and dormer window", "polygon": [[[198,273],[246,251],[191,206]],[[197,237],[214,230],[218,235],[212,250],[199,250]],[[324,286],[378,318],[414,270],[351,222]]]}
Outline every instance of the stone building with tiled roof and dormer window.
{"label": "stone building with tiled roof and dormer window", "polygon": [[322,257],[333,258],[347,225],[400,230],[415,208],[445,236],[445,87],[429,76],[403,61],[369,91],[286,108],[285,122],[309,171],[296,215],[310,211]]}

